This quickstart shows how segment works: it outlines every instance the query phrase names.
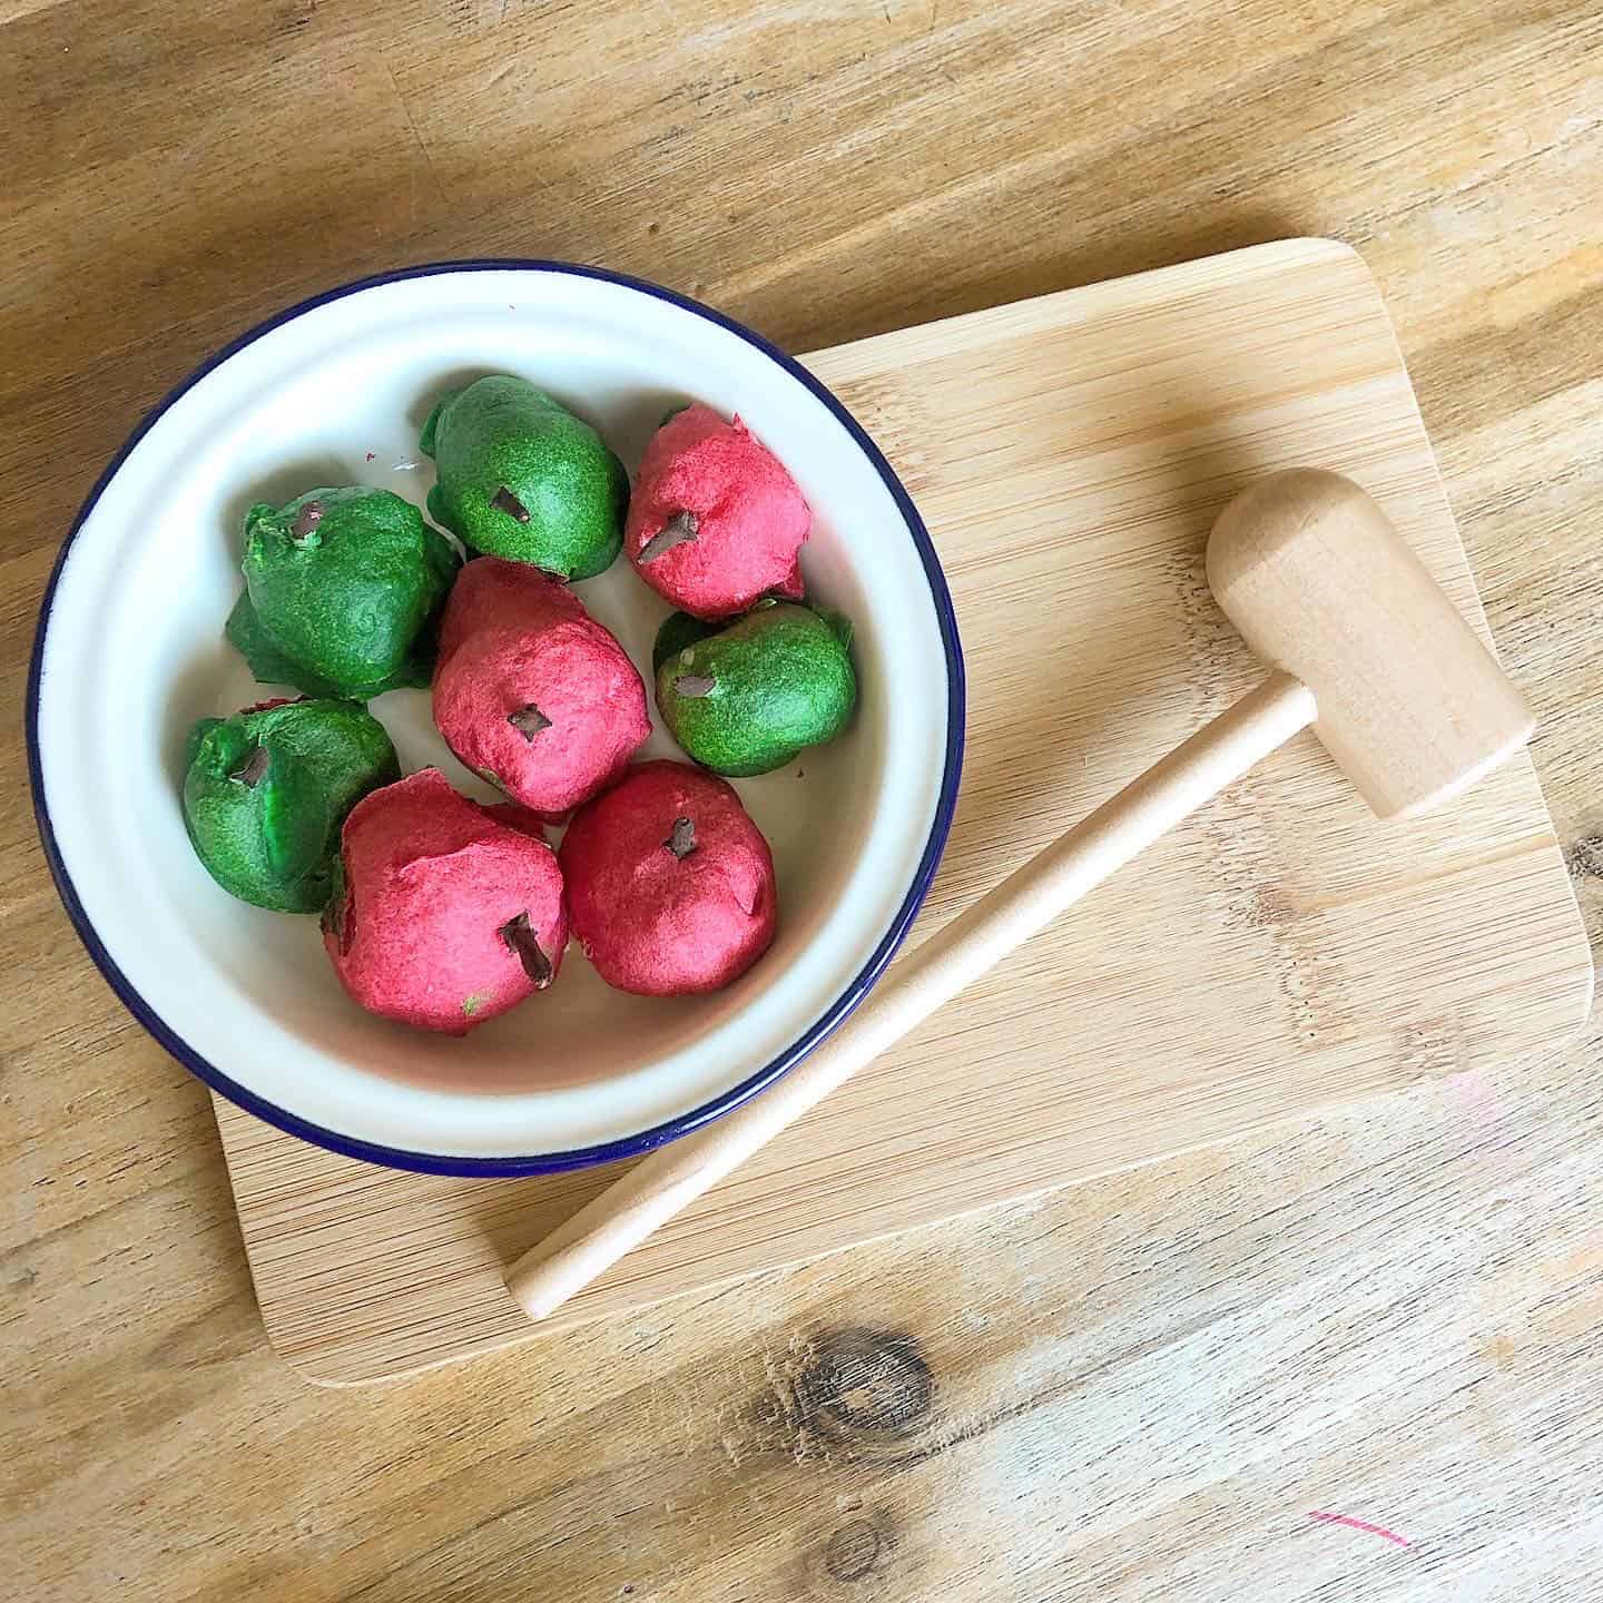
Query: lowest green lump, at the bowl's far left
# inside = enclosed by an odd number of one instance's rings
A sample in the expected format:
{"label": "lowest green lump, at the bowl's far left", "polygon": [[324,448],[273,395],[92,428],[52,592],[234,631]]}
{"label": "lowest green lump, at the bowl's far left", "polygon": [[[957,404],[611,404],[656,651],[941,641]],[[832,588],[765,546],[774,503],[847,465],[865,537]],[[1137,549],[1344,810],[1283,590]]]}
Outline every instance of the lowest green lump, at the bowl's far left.
{"label": "lowest green lump, at the bowl's far left", "polygon": [[202,718],[189,733],[184,824],[223,890],[274,912],[317,912],[345,816],[399,777],[383,725],[356,702],[279,702]]}

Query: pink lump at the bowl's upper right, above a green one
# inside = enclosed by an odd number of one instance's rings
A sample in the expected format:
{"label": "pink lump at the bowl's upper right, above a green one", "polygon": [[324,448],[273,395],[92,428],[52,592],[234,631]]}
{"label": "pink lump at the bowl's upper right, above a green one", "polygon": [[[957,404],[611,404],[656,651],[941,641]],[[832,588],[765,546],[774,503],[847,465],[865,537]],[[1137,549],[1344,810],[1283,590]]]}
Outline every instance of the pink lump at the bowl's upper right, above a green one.
{"label": "pink lump at the bowl's upper right, above a green one", "polygon": [[[696,539],[641,563],[641,548],[681,511],[696,515]],[[624,550],[659,595],[720,619],[765,595],[802,598],[797,551],[811,521],[797,481],[739,418],[689,406],[646,446]]]}

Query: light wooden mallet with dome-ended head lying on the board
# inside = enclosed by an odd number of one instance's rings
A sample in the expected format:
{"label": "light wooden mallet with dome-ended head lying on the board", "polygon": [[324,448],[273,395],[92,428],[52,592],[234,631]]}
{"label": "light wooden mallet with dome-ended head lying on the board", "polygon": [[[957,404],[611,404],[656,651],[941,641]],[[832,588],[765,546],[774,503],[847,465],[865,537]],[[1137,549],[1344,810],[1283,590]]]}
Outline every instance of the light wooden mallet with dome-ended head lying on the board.
{"label": "light wooden mallet with dome-ended head lying on the board", "polygon": [[1218,604],[1274,672],[915,952],[761,1096],[643,1159],[507,1278],[535,1319],[822,1101],[1143,846],[1313,726],[1383,819],[1446,802],[1531,737],[1470,627],[1350,479],[1292,470],[1238,495],[1207,545]]}

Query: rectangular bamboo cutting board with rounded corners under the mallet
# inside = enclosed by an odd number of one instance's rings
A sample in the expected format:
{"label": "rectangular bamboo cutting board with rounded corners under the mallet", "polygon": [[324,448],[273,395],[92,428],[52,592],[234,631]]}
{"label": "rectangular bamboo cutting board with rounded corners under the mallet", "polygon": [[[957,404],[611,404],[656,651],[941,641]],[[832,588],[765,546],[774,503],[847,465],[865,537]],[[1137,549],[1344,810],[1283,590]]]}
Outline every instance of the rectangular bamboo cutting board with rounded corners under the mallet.
{"label": "rectangular bamboo cutting board with rounded corners under the mallet", "polygon": [[[1484,630],[1345,247],[1287,240],[806,362],[919,502],[968,659],[962,803],[914,941],[1254,683],[1202,545],[1255,474],[1351,474]],[[1590,994],[1524,755],[1379,826],[1303,736],[550,1326],[1496,1063]],[[333,1385],[537,1335],[503,1265],[616,1173],[407,1175],[216,1112],[268,1332]]]}

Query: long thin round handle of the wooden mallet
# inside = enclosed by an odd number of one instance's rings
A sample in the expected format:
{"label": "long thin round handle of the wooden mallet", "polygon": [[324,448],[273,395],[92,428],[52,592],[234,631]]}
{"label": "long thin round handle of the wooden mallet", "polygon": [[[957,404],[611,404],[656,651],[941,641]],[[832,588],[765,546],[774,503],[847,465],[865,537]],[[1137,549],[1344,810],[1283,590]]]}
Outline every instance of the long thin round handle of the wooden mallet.
{"label": "long thin round handle of the wooden mallet", "polygon": [[1199,729],[907,954],[822,1045],[745,1106],[660,1148],[526,1252],[511,1295],[543,1319],[978,975],[1314,721],[1284,673]]}

